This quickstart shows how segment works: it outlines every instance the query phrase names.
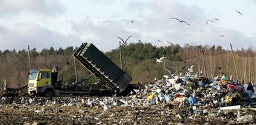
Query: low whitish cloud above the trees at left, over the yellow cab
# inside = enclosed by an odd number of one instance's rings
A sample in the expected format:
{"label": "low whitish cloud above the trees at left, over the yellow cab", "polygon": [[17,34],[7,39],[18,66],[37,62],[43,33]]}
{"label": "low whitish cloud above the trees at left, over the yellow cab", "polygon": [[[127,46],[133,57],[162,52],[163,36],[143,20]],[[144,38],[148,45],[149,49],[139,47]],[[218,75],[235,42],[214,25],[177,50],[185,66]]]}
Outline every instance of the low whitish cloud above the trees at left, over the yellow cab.
{"label": "low whitish cloud above the trees at left, over the yellow cab", "polygon": [[67,46],[79,46],[82,41],[75,35],[62,35],[52,32],[47,28],[33,23],[19,23],[13,29],[0,25],[0,50],[22,50],[27,45],[31,48],[36,47],[37,50],[42,48],[66,48]]}

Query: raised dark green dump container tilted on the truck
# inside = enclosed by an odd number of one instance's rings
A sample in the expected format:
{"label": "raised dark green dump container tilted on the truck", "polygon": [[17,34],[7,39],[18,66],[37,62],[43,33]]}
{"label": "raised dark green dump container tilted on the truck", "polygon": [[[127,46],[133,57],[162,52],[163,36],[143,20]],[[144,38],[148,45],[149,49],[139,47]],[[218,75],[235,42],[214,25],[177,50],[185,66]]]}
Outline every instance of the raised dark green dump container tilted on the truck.
{"label": "raised dark green dump container tilted on the truck", "polygon": [[116,66],[92,43],[83,43],[73,53],[73,57],[108,88],[123,92],[131,82],[131,77]]}

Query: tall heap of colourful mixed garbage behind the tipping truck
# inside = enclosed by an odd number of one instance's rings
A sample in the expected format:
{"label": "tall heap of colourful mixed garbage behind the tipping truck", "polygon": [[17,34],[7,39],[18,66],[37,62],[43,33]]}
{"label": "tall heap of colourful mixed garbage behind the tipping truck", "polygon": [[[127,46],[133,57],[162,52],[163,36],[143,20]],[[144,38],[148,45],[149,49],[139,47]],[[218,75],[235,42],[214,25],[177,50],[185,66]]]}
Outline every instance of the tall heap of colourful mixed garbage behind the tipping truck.
{"label": "tall heap of colourful mixed garbage behind the tipping truck", "polygon": [[168,103],[179,108],[207,105],[211,108],[233,105],[256,105],[256,87],[228,80],[224,75],[215,79],[176,76],[153,80],[137,90],[136,97],[147,97],[146,103]]}

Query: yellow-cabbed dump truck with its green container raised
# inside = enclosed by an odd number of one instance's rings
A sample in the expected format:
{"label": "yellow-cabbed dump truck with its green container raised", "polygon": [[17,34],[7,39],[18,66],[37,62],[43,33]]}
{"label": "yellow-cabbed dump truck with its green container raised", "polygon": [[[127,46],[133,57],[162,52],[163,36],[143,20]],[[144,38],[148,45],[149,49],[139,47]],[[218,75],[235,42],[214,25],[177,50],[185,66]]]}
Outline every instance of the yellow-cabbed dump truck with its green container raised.
{"label": "yellow-cabbed dump truck with its green container raised", "polygon": [[[131,77],[113,63],[102,51],[92,43],[82,43],[73,57],[82,64],[90,75],[68,87],[64,87],[62,80],[57,80],[59,67],[50,69],[31,69],[29,72],[28,93],[45,97],[61,95],[90,95],[111,96],[128,95],[135,87],[130,84]],[[85,80],[94,76],[98,83],[94,87],[81,85]]]}

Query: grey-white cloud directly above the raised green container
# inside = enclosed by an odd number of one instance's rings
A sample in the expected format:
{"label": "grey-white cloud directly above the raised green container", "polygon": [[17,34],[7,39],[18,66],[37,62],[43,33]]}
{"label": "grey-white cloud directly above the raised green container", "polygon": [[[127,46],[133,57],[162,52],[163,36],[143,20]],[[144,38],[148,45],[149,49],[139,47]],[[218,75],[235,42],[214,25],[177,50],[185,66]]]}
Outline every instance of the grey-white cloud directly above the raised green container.
{"label": "grey-white cloud directly above the raised green container", "polygon": [[130,35],[133,36],[128,40],[128,43],[134,42],[136,41],[135,38],[140,37],[138,33],[126,30],[120,22],[114,20],[104,20],[100,22],[100,24],[93,24],[87,17],[87,19],[78,23],[71,22],[71,24],[72,30],[76,33],[80,35],[93,35],[95,38],[88,36],[86,37],[86,41],[92,42],[96,46],[103,46],[102,48],[99,47],[99,49],[103,51],[118,48],[120,41],[118,37],[125,39]]}

